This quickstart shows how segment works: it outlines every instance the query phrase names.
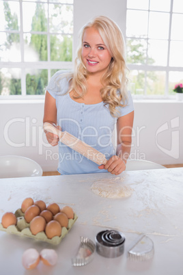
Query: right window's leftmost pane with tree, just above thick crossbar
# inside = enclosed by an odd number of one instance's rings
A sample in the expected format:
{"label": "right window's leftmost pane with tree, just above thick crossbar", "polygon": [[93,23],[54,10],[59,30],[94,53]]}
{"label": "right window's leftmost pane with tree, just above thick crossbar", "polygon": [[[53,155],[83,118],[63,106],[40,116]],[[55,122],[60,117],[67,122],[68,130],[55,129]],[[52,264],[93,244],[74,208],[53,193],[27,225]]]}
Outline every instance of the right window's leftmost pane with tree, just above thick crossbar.
{"label": "right window's leftmost pane with tree, just above thick crossbar", "polygon": [[146,63],[147,42],[144,39],[127,39],[126,53],[127,63],[145,64]]}

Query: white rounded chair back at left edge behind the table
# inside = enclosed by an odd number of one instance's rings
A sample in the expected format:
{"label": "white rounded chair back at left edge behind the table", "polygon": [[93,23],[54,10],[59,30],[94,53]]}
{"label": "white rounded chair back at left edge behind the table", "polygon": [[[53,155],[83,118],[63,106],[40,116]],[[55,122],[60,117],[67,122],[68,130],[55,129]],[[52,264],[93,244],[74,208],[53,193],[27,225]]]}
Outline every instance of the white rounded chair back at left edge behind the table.
{"label": "white rounded chair back at left edge behind the table", "polygon": [[42,168],[36,161],[27,157],[0,156],[0,179],[23,176],[42,176]]}

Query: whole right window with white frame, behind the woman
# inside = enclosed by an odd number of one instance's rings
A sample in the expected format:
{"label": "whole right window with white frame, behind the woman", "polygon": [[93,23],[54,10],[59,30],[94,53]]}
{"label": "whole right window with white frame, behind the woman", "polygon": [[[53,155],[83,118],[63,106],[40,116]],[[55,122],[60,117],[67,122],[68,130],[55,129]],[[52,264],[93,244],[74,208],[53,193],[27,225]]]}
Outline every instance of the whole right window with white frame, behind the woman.
{"label": "whole right window with white frame, behind the woman", "polygon": [[127,0],[129,86],[137,96],[171,96],[183,82],[183,1]]}

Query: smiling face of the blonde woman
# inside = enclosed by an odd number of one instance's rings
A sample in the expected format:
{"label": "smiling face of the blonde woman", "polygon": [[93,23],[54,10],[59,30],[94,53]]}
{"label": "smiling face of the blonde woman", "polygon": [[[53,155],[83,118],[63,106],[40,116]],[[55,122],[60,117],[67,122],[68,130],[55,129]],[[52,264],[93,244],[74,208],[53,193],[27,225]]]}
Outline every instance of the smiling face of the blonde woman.
{"label": "smiling face of the blonde woman", "polygon": [[85,30],[81,55],[87,71],[97,75],[103,75],[112,57],[98,30],[94,27]]}

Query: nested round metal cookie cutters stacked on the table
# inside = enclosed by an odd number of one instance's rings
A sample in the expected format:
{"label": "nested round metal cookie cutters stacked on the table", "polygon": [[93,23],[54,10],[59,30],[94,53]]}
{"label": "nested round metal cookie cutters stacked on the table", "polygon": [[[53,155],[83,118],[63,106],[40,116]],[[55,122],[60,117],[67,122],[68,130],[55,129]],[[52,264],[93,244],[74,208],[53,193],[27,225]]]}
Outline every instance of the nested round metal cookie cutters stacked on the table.
{"label": "nested round metal cookie cutters stacked on the table", "polygon": [[124,242],[124,234],[119,231],[101,231],[96,235],[96,252],[107,258],[119,257],[124,253]]}

